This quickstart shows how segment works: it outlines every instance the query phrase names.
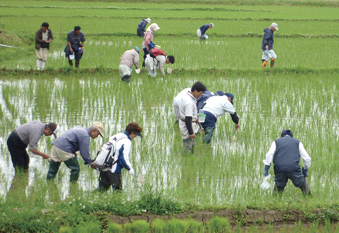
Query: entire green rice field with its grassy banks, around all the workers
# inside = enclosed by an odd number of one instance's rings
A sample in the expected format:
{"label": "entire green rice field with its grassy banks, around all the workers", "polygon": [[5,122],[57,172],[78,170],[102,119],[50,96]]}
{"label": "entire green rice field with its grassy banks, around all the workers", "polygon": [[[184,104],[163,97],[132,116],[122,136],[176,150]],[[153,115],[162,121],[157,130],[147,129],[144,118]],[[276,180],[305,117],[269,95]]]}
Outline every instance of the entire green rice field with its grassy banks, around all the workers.
{"label": "entire green rice field with its grassy banks, around all the workers", "polygon": [[[245,209],[299,210],[313,225],[305,228],[296,222],[279,230],[244,229],[236,227],[247,224],[239,216],[234,228],[219,219],[221,223],[181,232],[338,232],[333,223],[339,220],[338,16],[337,0],[269,5],[255,0],[208,4],[202,0],[0,0],[0,44],[18,48],[0,47],[0,209],[5,213],[0,216],[0,232],[133,232],[129,225],[113,231],[115,226],[103,220],[103,213],[142,216],[146,210],[164,216]],[[154,43],[176,59],[165,66],[173,73],[153,79],[143,68],[123,83],[120,57],[134,46],[141,49],[143,38],[136,29],[147,17],[160,27],[154,32]],[[45,71],[37,71],[34,38],[45,21],[54,40]],[[200,42],[196,31],[210,22],[215,28],[206,32],[207,41]],[[279,28],[274,32],[276,68],[262,69],[263,29],[272,22]],[[87,41],[76,69],[69,67],[63,50],[67,33],[77,25]],[[142,56],[140,52],[140,66]],[[218,118],[210,145],[202,144],[200,133],[194,154],[183,155],[172,103],[197,81],[210,91],[234,95],[240,129],[232,139],[234,123],[225,114]],[[82,162],[77,184],[69,183],[64,164],[54,182],[46,183],[49,164],[33,155],[29,173],[14,176],[6,140],[31,120],[58,123],[59,135],[100,121],[105,138],[91,139],[92,158],[111,135],[137,121],[144,139],[132,141],[130,160],[145,183],[124,170],[122,193],[99,193],[95,190],[99,172]],[[284,129],[293,131],[312,159],[307,178],[311,197],[304,197],[291,182],[281,197],[273,195],[273,179],[271,188],[260,188],[262,160]],[[40,150],[49,153],[53,140],[42,136]],[[270,174],[274,175],[273,167]],[[319,221],[325,224],[318,226]],[[226,225],[214,231],[211,224]]]}

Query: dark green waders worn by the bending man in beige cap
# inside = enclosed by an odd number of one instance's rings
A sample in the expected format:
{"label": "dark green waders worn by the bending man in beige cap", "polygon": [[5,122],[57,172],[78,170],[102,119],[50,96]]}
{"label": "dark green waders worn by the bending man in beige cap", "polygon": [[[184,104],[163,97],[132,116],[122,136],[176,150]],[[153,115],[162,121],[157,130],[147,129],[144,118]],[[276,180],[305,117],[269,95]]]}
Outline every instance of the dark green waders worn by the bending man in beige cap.
{"label": "dark green waders worn by the bending man in beige cap", "polygon": [[[70,159],[67,159],[66,161],[63,161],[65,165],[71,169],[71,176],[69,178],[70,182],[77,182],[77,179],[79,178],[80,173],[80,166],[79,162],[77,161],[77,157],[73,157]],[[61,165],[61,162],[56,162],[54,160],[51,160],[49,163],[49,168],[47,172],[47,180],[54,179],[54,177],[57,175],[59,171],[59,167]]]}

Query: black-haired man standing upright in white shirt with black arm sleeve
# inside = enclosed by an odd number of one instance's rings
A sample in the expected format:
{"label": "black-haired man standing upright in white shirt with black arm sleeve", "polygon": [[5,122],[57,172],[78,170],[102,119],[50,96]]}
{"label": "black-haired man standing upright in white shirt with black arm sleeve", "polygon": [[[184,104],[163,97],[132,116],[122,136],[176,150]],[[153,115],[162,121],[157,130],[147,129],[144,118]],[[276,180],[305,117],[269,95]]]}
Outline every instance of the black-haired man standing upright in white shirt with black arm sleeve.
{"label": "black-haired man standing upright in white shirt with black arm sleeve", "polygon": [[184,93],[181,96],[179,105],[179,128],[183,138],[183,152],[193,153],[195,145],[195,133],[199,131],[197,123],[197,99],[206,90],[206,86],[201,82],[193,84],[191,91]]}

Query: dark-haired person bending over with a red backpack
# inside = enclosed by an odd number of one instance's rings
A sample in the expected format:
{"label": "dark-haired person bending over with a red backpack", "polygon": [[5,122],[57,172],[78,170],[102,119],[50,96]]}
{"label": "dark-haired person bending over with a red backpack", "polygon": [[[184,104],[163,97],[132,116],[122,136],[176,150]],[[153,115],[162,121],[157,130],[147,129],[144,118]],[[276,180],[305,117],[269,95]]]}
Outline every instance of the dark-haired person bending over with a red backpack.
{"label": "dark-haired person bending over with a red backpack", "polygon": [[148,75],[152,78],[155,78],[157,75],[156,70],[160,69],[160,72],[164,78],[166,78],[165,74],[165,63],[173,64],[175,62],[174,56],[167,56],[163,50],[160,49],[152,49],[150,50],[150,54],[147,54],[147,58],[145,61],[146,69],[148,71]]}

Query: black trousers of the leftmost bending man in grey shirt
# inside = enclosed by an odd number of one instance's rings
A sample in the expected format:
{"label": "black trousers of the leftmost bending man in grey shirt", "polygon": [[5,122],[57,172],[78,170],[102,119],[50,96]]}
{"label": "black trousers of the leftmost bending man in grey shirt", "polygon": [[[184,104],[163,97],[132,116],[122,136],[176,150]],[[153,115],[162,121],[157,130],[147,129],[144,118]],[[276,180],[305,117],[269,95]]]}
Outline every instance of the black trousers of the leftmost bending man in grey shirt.
{"label": "black trousers of the leftmost bending man in grey shirt", "polygon": [[23,143],[17,135],[16,131],[13,131],[7,139],[7,147],[11,154],[12,163],[15,168],[28,170],[30,164],[30,156],[27,153],[27,145]]}

